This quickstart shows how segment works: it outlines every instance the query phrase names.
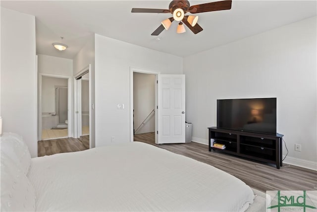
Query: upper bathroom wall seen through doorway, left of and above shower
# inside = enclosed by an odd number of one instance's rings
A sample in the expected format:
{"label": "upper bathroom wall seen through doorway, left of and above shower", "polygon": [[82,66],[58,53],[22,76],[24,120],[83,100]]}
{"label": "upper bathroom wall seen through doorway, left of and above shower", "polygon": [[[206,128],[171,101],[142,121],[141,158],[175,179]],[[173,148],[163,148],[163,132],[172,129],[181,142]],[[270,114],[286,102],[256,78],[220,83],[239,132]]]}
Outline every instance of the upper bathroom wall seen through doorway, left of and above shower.
{"label": "upper bathroom wall seen through doorway, left of and above shower", "polygon": [[55,112],[55,86],[67,87],[67,79],[42,77],[42,113]]}

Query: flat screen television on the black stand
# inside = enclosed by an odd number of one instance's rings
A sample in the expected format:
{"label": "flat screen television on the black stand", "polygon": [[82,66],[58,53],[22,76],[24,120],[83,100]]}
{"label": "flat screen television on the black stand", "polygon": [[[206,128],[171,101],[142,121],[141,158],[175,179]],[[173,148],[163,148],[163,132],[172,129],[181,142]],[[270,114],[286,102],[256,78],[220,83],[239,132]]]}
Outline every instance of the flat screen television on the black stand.
{"label": "flat screen television on the black stand", "polygon": [[276,98],[217,99],[217,128],[276,135]]}

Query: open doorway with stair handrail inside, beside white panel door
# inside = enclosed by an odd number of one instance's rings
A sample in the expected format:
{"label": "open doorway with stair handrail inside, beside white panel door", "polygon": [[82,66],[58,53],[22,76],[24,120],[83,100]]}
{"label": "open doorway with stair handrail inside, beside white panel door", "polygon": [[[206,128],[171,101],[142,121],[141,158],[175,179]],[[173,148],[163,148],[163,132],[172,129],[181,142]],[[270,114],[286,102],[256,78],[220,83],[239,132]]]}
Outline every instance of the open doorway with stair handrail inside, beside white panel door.
{"label": "open doorway with stair handrail inside, beside white panel door", "polygon": [[131,141],[157,141],[157,75],[131,69]]}

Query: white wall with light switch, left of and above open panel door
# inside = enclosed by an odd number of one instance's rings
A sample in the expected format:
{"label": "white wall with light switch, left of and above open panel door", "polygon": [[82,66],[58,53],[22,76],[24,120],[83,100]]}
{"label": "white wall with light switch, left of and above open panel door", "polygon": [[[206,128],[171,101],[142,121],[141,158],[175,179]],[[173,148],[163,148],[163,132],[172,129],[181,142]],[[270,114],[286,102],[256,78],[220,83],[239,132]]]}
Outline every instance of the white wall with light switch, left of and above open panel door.
{"label": "white wall with light switch, left of and above open panel door", "polygon": [[[183,59],[144,47],[95,36],[96,146],[130,141],[130,67],[181,74]],[[124,104],[124,109],[117,109]]]}

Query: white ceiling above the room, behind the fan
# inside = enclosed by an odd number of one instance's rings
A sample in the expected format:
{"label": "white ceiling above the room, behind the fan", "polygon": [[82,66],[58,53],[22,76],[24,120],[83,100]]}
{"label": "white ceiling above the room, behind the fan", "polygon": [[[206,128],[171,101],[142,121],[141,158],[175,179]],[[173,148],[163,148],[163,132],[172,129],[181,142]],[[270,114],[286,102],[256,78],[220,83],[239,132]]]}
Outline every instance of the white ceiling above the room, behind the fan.
{"label": "white ceiling above the room, behind the fan", "polygon": [[[191,5],[211,2],[190,0]],[[203,31],[177,34],[174,21],[151,33],[171,14],[131,13],[132,7],[167,9],[165,0],[1,0],[1,6],[36,17],[37,54],[73,59],[94,33],[180,57],[316,16],[316,0],[233,0],[230,10],[197,13]],[[186,27],[186,26],[185,26]],[[64,37],[61,40],[60,37]],[[159,37],[160,41],[156,40]],[[59,52],[53,42],[69,48]]]}

